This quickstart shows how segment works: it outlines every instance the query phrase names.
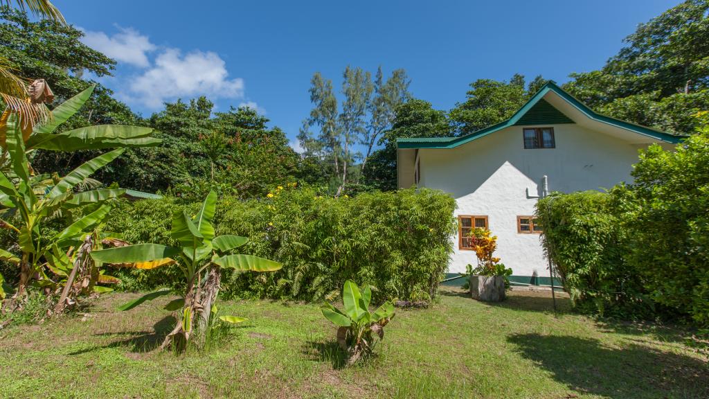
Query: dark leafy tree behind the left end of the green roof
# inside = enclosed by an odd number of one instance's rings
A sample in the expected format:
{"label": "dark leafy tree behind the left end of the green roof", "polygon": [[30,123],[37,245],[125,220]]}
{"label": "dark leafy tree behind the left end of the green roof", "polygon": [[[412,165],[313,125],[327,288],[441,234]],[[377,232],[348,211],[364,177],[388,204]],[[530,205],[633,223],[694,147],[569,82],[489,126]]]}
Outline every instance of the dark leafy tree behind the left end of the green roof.
{"label": "dark leafy tree behind the left end of the green roof", "polygon": [[391,129],[379,138],[384,146],[369,156],[364,184],[379,190],[396,190],[396,139],[408,137],[450,137],[453,129],[445,111],[430,102],[410,99],[396,106]]}

